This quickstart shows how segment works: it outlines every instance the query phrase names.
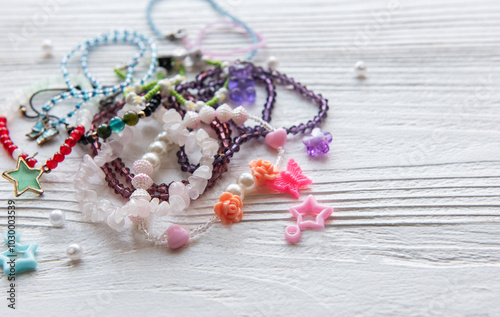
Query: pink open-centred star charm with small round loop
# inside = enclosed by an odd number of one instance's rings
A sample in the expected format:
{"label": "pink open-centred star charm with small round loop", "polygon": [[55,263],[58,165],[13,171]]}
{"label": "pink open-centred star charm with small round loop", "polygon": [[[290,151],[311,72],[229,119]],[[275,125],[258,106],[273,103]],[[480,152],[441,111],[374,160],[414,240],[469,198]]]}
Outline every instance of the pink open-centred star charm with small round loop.
{"label": "pink open-centred star charm with small round loop", "polygon": [[[318,204],[314,196],[309,195],[302,204],[290,207],[289,211],[292,216],[297,218],[297,224],[285,228],[285,238],[289,243],[297,243],[300,240],[302,229],[325,229],[325,220],[331,216],[333,208]],[[316,216],[316,219],[315,221],[304,221],[306,216]]]}

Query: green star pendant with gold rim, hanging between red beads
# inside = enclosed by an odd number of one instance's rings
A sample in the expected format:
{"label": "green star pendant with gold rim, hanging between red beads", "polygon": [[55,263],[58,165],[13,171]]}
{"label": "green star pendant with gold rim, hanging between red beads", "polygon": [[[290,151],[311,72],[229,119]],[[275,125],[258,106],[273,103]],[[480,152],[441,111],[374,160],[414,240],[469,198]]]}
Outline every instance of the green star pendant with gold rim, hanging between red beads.
{"label": "green star pendant with gold rim, hanging between red beads", "polygon": [[24,158],[19,157],[17,159],[16,169],[3,172],[2,176],[14,183],[14,192],[17,197],[27,190],[37,194],[43,194],[43,189],[39,180],[43,173],[43,170],[39,168],[29,167]]}

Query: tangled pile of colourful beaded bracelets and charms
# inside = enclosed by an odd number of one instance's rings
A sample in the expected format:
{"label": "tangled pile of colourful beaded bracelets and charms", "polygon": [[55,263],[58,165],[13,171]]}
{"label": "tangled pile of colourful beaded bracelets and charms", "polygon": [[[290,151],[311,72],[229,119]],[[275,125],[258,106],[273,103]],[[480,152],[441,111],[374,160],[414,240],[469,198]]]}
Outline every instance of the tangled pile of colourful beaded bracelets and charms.
{"label": "tangled pile of colourful beaded bracelets and charms", "polygon": [[[108,225],[110,230],[123,231],[130,225],[131,230],[142,232],[146,240],[178,249],[219,222],[225,226],[240,222],[244,217],[244,198],[257,187],[299,199],[299,192],[313,182],[294,159],[285,164],[287,136],[305,134],[304,153],[317,157],[328,153],[332,135],[320,129],[329,109],[328,101],[321,94],[278,72],[274,57],[269,59],[267,67],[250,61],[256,50],[266,45],[262,35],[210,0],[212,6],[231,21],[208,24],[193,44],[183,30],[164,35],[156,27],[151,14],[155,2],[151,1],[147,9],[153,32],[182,43],[183,49],[159,55],[153,39],[132,30],[106,32],[83,41],[62,59],[62,80],[46,81],[26,89],[0,114],[0,142],[17,162],[15,169],[2,175],[13,183],[15,196],[27,191],[42,194],[43,175],[55,172],[66,156],[74,155],[75,146],[83,147],[87,154],[74,178],[82,214],[91,222]],[[243,29],[253,44],[232,52],[203,49],[203,37],[218,24]],[[115,43],[135,45],[138,52],[123,68],[114,70],[121,78],[119,83],[104,85],[89,71],[88,54],[100,45]],[[249,52],[246,60],[227,59],[244,52]],[[67,65],[76,55],[80,55],[82,75],[73,76]],[[217,56],[223,60],[216,60]],[[149,66],[142,78],[135,78],[141,59],[148,60]],[[194,74],[192,80],[186,79],[186,72]],[[255,107],[259,86],[266,93],[260,117],[249,111],[249,107]],[[277,87],[293,90],[298,98],[316,105],[317,115],[288,127],[271,125]],[[36,106],[33,99],[42,92],[53,96],[41,107]],[[73,109],[59,110],[60,103],[72,101]],[[12,107],[20,111],[12,111]],[[45,160],[39,161],[18,147],[14,142],[21,138],[11,138],[8,129],[20,119],[15,113],[34,120],[27,136],[40,146],[56,142],[59,134],[67,134],[59,150],[52,155],[44,155],[40,150],[37,157],[45,157]],[[139,132],[139,127],[144,126],[161,127],[161,130],[147,140]],[[225,179],[231,158],[238,153],[245,155],[245,144],[250,142],[272,149],[275,160],[250,155],[246,172],[233,176],[233,181]],[[144,153],[134,153],[136,158],[127,164],[122,155],[125,149],[137,143],[149,145]],[[175,153],[177,162],[166,159],[170,153]],[[178,169],[188,176],[182,180],[161,179],[158,175],[166,168]],[[213,202],[214,214],[205,223],[191,230],[170,223],[157,230],[155,222],[171,214],[189,214],[192,201],[219,181],[227,185],[218,201]],[[290,208],[297,224],[285,229],[286,240],[299,242],[304,228],[323,229],[332,211],[309,196],[302,204]],[[316,220],[304,220],[306,216],[314,216]],[[49,216],[54,226],[63,226],[64,218],[60,210],[54,210]],[[72,260],[79,259],[82,252],[78,244],[71,245],[67,251]],[[5,263],[2,264],[6,272]],[[26,267],[33,269],[33,266]]]}

